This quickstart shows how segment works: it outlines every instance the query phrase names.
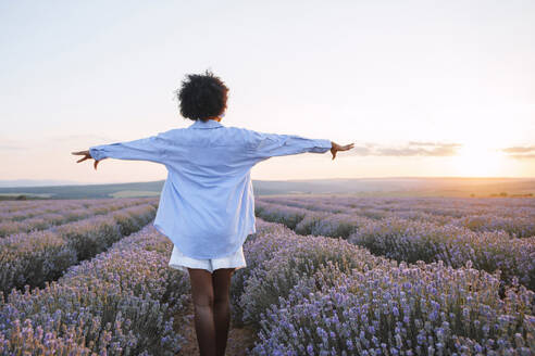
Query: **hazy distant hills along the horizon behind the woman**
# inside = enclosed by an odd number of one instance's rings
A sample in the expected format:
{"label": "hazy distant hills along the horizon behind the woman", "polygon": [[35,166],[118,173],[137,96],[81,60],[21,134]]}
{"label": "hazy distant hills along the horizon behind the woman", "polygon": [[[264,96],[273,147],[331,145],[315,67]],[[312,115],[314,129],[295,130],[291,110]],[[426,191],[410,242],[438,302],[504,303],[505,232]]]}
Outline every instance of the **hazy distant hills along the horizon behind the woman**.
{"label": "hazy distant hills along the horizon behind the woman", "polygon": [[[153,196],[164,180],[84,186],[0,188],[2,200],[113,199],[114,196]],[[254,195],[351,194],[356,196],[456,196],[456,198],[533,198],[535,179],[527,178],[354,178],[311,180],[253,180]]]}

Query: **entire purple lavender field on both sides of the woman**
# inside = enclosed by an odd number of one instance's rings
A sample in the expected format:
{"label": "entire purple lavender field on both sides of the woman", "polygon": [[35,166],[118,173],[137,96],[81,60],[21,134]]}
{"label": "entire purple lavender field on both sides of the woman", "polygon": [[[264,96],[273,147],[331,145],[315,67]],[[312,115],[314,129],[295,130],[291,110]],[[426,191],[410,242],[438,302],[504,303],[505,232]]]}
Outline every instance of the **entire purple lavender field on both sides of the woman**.
{"label": "entire purple lavender field on both sides of the woman", "polygon": [[[0,354],[191,355],[157,207],[1,203]],[[266,195],[256,214],[231,289],[252,340],[227,355],[535,352],[534,199]]]}

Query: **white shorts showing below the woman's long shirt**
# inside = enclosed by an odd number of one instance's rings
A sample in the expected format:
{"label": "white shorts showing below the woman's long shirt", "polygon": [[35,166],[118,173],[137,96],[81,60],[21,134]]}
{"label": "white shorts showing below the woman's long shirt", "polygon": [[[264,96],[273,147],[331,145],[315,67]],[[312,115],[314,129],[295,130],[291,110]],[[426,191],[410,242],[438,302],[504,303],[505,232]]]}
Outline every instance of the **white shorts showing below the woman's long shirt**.
{"label": "white shorts showing below the woman's long shirt", "polygon": [[202,268],[213,274],[215,269],[219,268],[236,268],[240,269],[247,267],[247,263],[244,256],[244,246],[240,246],[236,253],[220,257],[220,258],[208,258],[198,259],[185,256],[176,245],[173,245],[173,252],[171,253],[171,258],[169,266],[185,272],[188,272],[189,268]]}

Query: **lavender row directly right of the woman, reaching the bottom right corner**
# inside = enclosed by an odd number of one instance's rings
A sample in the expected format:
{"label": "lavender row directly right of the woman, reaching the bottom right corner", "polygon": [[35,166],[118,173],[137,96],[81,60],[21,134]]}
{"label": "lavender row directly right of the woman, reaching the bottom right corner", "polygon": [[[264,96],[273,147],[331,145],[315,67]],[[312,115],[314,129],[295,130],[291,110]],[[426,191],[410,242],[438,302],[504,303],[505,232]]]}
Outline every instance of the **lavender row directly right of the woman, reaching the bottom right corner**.
{"label": "lavender row directly right of the woman, reaching the bottom right corner", "polygon": [[398,263],[257,219],[231,289],[252,355],[533,355],[535,294],[443,263]]}

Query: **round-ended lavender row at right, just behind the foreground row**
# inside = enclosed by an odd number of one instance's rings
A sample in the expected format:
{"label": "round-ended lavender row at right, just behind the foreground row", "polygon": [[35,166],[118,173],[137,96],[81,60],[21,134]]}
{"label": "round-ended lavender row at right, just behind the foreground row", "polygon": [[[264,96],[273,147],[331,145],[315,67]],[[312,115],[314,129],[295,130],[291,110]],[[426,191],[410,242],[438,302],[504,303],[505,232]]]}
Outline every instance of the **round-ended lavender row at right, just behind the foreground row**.
{"label": "round-ended lavender row at right, just behind the foreground row", "polygon": [[474,232],[453,225],[387,218],[361,226],[348,241],[374,254],[397,260],[443,260],[461,267],[471,260],[477,269],[501,270],[501,279],[513,278],[535,290],[535,238],[511,239],[505,231]]}

